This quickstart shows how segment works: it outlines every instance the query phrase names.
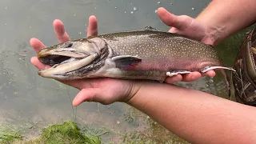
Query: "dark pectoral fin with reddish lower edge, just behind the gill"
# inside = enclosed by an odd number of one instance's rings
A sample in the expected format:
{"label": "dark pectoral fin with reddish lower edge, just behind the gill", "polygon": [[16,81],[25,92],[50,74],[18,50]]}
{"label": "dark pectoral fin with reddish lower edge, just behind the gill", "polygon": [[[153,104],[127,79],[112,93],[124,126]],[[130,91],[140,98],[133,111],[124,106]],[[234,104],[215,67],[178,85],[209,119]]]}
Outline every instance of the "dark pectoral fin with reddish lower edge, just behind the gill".
{"label": "dark pectoral fin with reddish lower edge, just behind the gill", "polygon": [[122,55],[112,58],[112,61],[115,63],[116,67],[127,70],[134,69],[139,62],[142,62],[142,59],[131,55]]}

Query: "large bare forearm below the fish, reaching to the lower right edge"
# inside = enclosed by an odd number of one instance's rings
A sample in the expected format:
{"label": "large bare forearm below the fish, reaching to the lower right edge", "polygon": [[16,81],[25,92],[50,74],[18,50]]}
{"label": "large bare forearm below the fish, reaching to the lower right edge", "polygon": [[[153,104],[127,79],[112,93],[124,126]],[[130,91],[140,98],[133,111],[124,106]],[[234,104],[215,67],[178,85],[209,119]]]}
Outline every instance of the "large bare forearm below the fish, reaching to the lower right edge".
{"label": "large bare forearm below the fish, reaching to the lower right edge", "polygon": [[256,141],[256,108],[198,90],[146,83],[127,103],[192,143]]}

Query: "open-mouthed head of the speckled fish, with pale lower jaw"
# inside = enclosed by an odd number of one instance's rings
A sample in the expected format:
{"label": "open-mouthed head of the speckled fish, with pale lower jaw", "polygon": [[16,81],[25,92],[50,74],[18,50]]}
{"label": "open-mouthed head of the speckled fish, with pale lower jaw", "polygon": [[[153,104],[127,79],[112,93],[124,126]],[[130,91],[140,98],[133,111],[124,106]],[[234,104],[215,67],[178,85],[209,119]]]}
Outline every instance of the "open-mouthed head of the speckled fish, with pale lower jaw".
{"label": "open-mouthed head of the speckled fish, with pale lower jaw", "polygon": [[38,60],[51,66],[38,75],[58,80],[71,80],[97,71],[108,55],[106,42],[101,38],[83,38],[43,48]]}

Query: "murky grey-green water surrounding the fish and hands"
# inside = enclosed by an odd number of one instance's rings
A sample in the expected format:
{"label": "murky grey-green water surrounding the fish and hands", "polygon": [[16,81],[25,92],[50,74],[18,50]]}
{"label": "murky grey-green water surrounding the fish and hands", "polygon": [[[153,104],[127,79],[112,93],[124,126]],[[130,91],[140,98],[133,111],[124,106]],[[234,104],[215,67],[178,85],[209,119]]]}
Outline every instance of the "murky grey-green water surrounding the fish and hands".
{"label": "murky grey-green water surrounding the fish and hands", "polygon": [[[158,7],[164,6],[174,14],[195,17],[209,2],[210,0],[2,0],[1,121],[18,123],[24,127],[24,133],[28,137],[37,136],[37,130],[43,126],[76,118],[81,124],[90,124],[96,130],[110,131],[102,136],[104,142],[146,139],[156,143],[186,143],[145,114],[123,103],[103,106],[95,102],[85,102],[82,106],[72,107],[71,100],[78,90],[39,77],[37,70],[30,64],[30,57],[35,53],[29,41],[35,37],[46,46],[58,43],[52,26],[55,18],[64,22],[71,38],[86,37],[86,26],[91,14],[98,18],[99,34],[138,30],[145,26],[169,30],[155,14]],[[233,65],[242,35],[232,38],[218,46],[227,66]],[[221,76],[181,84],[226,97],[225,83]]]}

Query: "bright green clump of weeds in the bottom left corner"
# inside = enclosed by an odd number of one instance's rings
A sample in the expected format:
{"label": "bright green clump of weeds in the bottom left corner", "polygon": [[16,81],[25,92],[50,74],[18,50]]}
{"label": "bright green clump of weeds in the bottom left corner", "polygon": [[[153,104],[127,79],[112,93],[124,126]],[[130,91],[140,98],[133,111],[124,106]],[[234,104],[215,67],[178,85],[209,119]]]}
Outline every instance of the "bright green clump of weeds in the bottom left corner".
{"label": "bright green clump of weeds in the bottom left corner", "polygon": [[81,130],[74,122],[63,122],[60,125],[52,125],[42,129],[39,138],[25,141],[17,131],[8,128],[0,133],[0,143],[24,143],[24,144],[100,144],[101,139],[90,130]]}

